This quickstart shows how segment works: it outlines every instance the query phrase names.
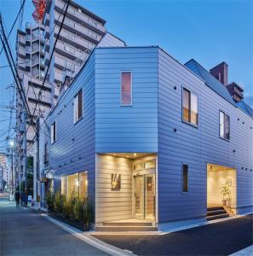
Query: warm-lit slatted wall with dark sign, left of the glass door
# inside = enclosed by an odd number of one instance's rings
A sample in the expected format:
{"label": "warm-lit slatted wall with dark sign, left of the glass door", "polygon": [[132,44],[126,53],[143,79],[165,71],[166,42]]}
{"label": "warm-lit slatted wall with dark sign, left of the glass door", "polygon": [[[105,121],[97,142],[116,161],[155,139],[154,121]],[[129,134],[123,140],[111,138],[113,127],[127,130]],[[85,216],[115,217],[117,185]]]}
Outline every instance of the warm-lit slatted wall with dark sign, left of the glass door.
{"label": "warm-lit slatted wall with dark sign, left of the glass door", "polygon": [[[95,223],[132,218],[132,160],[96,155]],[[112,191],[112,174],[121,174],[121,189]]]}

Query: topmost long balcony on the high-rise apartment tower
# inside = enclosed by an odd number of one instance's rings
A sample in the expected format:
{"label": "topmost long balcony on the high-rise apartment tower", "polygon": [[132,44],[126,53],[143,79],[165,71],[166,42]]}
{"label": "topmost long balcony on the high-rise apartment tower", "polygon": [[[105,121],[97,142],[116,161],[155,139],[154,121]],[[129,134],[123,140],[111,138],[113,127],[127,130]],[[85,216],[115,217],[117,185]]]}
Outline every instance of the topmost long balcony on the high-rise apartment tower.
{"label": "topmost long balcony on the high-rise apartment tower", "polygon": [[[57,11],[61,11],[64,9],[64,2],[55,1],[55,9]],[[94,30],[95,32],[103,35],[106,32],[106,27],[101,26],[101,24],[95,19],[91,18],[88,15],[82,13],[81,10],[75,9],[72,6],[69,7],[67,16],[69,16],[72,20],[75,20],[78,23],[83,23],[85,26],[89,27],[89,29]]]}

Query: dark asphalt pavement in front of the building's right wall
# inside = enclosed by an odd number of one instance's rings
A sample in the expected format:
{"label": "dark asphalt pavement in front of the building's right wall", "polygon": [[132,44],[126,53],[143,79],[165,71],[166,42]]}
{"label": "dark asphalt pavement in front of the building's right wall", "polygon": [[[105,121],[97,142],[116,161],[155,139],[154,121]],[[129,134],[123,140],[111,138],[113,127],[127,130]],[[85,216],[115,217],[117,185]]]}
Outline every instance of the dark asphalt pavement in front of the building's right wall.
{"label": "dark asphalt pavement in front of the building's right wall", "polygon": [[164,236],[95,236],[137,255],[229,255],[253,244],[253,215]]}

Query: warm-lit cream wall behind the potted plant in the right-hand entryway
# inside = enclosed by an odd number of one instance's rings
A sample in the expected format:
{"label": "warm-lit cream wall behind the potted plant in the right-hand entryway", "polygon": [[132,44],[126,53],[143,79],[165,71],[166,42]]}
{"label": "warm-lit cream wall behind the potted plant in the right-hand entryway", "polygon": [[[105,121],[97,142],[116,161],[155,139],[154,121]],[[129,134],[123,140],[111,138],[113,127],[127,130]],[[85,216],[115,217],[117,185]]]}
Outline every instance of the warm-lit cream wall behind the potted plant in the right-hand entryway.
{"label": "warm-lit cream wall behind the potted plant in the right-hand entryway", "polygon": [[236,170],[209,170],[207,172],[207,206],[222,205],[221,185],[231,181],[231,207],[236,207]]}

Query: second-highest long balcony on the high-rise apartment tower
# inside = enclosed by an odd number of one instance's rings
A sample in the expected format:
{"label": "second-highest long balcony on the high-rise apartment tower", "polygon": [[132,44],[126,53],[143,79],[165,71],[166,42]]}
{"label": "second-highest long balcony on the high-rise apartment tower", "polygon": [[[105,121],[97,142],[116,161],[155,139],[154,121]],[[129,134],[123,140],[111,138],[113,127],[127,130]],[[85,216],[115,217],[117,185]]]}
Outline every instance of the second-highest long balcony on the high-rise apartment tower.
{"label": "second-highest long balcony on the high-rise apartment tower", "polygon": [[[58,20],[58,18],[59,18],[59,14],[55,13],[55,20]],[[74,34],[76,33],[81,34],[83,38],[92,42],[93,44],[98,44],[99,41],[101,40],[101,35],[98,35],[97,33],[90,31],[87,27],[81,26],[80,24],[78,24],[77,22],[74,22],[69,18],[65,19],[63,28],[67,29],[68,31]]]}

